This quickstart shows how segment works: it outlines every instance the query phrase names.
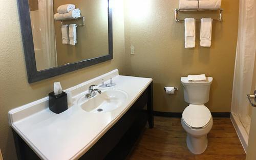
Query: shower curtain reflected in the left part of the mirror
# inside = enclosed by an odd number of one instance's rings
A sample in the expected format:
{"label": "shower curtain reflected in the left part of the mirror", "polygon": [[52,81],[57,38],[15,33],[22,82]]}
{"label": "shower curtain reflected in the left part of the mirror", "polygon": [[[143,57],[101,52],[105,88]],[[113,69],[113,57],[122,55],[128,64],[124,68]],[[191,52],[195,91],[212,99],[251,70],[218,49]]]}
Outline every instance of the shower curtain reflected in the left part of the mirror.
{"label": "shower curtain reflected in the left part of the mirror", "polygon": [[[41,49],[45,61],[44,69],[57,66],[55,32],[54,32],[54,10],[52,0],[38,0]],[[41,61],[41,60],[39,60]]]}

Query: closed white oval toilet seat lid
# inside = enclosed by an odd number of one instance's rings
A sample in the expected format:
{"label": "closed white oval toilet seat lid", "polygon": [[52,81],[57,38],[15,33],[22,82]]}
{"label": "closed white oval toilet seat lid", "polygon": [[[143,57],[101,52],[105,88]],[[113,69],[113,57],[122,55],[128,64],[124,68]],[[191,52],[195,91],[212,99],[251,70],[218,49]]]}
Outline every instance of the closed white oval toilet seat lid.
{"label": "closed white oval toilet seat lid", "polygon": [[203,128],[211,120],[211,113],[204,104],[189,104],[182,113],[183,121],[191,128]]}

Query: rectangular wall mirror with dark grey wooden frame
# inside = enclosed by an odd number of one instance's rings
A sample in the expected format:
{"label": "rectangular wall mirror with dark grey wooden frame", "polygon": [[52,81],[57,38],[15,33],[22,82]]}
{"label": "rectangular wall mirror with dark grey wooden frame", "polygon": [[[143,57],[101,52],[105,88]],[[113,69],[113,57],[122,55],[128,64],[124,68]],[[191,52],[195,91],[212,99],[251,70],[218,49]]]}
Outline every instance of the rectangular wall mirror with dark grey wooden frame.
{"label": "rectangular wall mirror with dark grey wooden frame", "polygon": [[29,83],[113,59],[109,1],[17,0]]}

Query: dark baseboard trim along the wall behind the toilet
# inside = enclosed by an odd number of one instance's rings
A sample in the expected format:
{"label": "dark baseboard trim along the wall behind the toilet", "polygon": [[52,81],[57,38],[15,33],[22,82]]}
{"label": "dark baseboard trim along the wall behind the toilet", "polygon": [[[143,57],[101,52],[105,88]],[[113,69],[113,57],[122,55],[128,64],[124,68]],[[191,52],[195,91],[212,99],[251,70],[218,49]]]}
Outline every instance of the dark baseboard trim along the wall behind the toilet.
{"label": "dark baseboard trim along the wall behind the toilet", "polygon": [[[212,112],[212,117],[230,118],[230,112]],[[181,118],[181,112],[160,112],[154,111],[154,116]]]}

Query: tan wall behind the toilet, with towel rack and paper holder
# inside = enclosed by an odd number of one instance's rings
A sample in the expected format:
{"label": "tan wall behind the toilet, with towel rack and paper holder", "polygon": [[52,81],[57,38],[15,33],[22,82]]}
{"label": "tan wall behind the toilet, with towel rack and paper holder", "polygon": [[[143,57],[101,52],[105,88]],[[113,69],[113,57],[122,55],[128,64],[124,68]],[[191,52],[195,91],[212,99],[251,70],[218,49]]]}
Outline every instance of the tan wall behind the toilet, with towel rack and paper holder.
{"label": "tan wall behind the toilet, with towel rack and paper holder", "polygon": [[[127,75],[152,77],[156,111],[182,112],[184,102],[181,76],[206,74],[214,77],[211,112],[230,112],[234,60],[238,33],[238,0],[223,0],[223,22],[212,24],[212,45],[200,47],[200,23],[196,24],[196,48],[184,48],[184,23],[176,23],[174,9],[179,1],[125,0],[125,66]],[[209,17],[190,13],[187,17]],[[218,17],[218,14],[212,16]],[[135,55],[130,55],[135,46]],[[176,86],[176,95],[166,95],[164,86]]]}

